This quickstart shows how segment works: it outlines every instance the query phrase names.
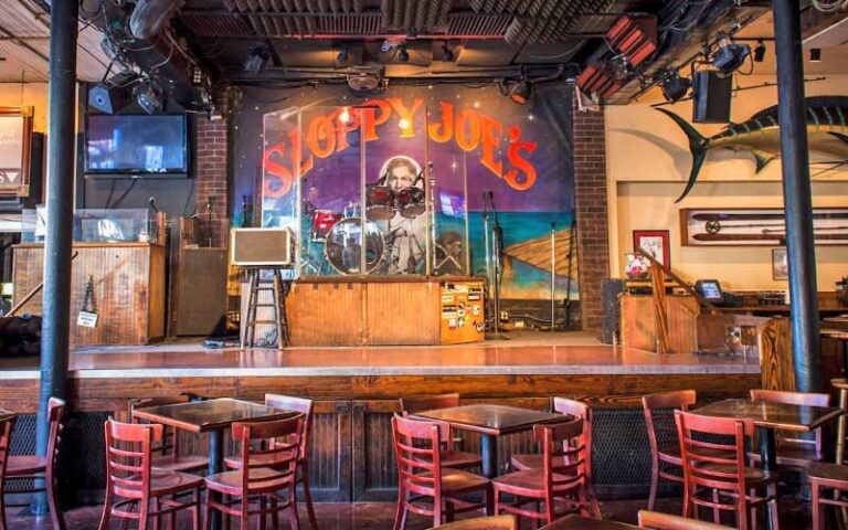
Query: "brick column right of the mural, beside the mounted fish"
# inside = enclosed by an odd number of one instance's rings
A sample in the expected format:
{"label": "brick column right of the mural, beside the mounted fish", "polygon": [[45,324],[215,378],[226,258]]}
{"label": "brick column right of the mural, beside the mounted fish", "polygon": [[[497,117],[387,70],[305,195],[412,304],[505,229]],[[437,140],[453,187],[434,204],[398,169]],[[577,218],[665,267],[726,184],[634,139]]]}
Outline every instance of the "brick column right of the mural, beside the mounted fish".
{"label": "brick column right of the mural, beside the mounted fish", "polygon": [[574,210],[583,330],[598,331],[603,311],[601,282],[610,277],[604,113],[573,112]]}

